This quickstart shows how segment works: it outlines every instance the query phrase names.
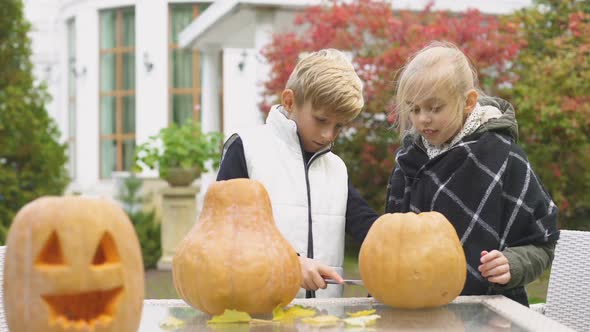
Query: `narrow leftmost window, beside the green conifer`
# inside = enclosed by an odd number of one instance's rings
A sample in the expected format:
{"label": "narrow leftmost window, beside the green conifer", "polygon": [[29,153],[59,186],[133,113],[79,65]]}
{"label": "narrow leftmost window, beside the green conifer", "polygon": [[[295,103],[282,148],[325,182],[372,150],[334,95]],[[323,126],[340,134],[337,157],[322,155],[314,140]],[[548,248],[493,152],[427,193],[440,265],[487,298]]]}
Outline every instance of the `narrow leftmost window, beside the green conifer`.
{"label": "narrow leftmost window, beside the green conifer", "polygon": [[68,170],[76,178],[76,21],[66,22],[68,38]]}

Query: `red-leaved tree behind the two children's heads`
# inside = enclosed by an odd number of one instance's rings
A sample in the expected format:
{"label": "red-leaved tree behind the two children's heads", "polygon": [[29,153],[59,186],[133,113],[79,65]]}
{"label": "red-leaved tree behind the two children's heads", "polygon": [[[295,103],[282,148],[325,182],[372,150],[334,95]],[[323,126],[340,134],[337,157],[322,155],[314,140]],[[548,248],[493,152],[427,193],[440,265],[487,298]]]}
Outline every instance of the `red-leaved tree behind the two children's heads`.
{"label": "red-leaved tree behind the two children's heads", "polygon": [[335,150],[345,160],[353,184],[377,211],[383,210],[399,142],[392,130],[395,75],[411,54],[432,40],[447,40],[470,56],[487,91],[514,79],[508,69],[521,46],[514,38],[516,24],[477,10],[450,13],[431,7],[394,12],[389,1],[331,1],[309,7],[296,18],[301,33],[276,34],[263,49],[272,68],[265,82],[264,112],[278,102],[301,52],[333,47],[351,54],[365,83],[366,107]]}

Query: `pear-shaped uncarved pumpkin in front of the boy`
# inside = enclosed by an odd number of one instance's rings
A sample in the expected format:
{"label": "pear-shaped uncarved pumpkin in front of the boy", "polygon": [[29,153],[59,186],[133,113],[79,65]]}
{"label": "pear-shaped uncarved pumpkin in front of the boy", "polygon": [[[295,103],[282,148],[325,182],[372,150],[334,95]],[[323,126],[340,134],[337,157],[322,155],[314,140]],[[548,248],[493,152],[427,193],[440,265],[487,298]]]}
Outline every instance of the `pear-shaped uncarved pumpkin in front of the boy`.
{"label": "pear-shaped uncarved pumpkin in front of the boy", "polygon": [[210,315],[272,312],[293,300],[302,278],[266,190],[249,179],[211,184],[199,221],[177,247],[172,275],[180,297]]}

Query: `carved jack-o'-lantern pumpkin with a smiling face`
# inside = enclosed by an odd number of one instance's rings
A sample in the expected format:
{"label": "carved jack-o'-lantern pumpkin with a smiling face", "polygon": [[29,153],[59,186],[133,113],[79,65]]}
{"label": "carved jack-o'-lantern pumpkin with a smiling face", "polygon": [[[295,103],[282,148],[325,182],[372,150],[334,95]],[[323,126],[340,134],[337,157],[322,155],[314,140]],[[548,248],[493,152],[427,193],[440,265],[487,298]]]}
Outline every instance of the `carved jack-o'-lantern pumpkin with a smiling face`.
{"label": "carved jack-o'-lantern pumpkin with a smiling face", "polygon": [[133,225],[114,202],[70,196],[28,203],[6,241],[10,331],[136,331],[141,257]]}

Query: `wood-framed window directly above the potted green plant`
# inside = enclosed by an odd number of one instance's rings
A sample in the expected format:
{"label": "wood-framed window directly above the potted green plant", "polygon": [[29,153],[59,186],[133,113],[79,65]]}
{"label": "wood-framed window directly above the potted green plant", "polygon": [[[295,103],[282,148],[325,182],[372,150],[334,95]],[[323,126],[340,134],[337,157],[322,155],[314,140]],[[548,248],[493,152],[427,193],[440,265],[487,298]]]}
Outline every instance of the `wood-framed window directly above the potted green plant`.
{"label": "wood-framed window directly above the potted green plant", "polygon": [[181,49],[178,46],[178,35],[208,6],[209,3],[200,3],[172,4],[169,7],[169,123],[181,124],[186,119],[200,120],[201,70],[199,52]]}

